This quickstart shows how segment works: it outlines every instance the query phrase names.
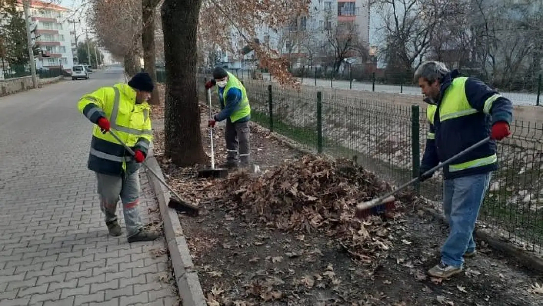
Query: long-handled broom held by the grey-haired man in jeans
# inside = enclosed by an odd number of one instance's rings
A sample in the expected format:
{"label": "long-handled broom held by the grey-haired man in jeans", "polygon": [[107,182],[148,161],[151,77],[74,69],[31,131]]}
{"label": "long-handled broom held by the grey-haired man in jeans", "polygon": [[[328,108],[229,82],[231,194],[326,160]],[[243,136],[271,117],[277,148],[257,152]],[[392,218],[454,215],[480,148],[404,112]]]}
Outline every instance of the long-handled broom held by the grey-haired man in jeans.
{"label": "long-handled broom held by the grey-haired man in jeans", "polygon": [[[484,145],[484,143],[487,143],[488,141],[490,141],[490,137],[487,137],[487,138],[475,143],[475,145],[472,145],[471,147],[465,149],[464,151],[454,155],[450,159],[445,160],[443,163],[441,163],[441,164],[431,168],[430,170],[426,171],[423,175],[428,175],[428,174],[434,173],[439,168],[451,164],[457,158],[463,157],[465,154],[468,154],[469,152],[473,151],[474,149]],[[406,189],[409,185],[411,185],[411,184],[413,184],[415,182],[419,182],[419,177],[416,177],[416,178],[410,180],[409,182],[401,185],[400,187],[398,187],[397,189],[395,189],[393,191],[387,192],[384,196],[382,196],[382,197],[380,197],[378,199],[373,199],[371,201],[367,201],[367,202],[364,202],[364,203],[357,204],[356,205],[356,216],[358,216],[359,218],[366,217],[371,213],[371,209],[378,206],[378,205],[384,205],[385,209],[387,210],[388,207],[393,206],[393,203],[394,203],[394,201],[396,199],[394,197],[394,195],[397,192],[399,192],[399,191],[401,191],[403,189]]]}

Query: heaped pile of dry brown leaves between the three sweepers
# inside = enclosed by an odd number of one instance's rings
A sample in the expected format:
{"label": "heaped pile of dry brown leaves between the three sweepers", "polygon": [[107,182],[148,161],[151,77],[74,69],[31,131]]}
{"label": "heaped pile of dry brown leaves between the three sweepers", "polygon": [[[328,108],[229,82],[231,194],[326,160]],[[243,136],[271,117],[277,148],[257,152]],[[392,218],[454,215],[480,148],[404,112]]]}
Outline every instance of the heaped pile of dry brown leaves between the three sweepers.
{"label": "heaped pile of dry brown leaves between the three sweepers", "polygon": [[[357,203],[378,197],[391,186],[351,160],[305,156],[258,177],[236,172],[222,189],[229,209],[256,214],[280,229],[318,230],[363,262],[383,257],[392,245],[387,221],[355,216]],[[406,197],[410,196],[401,198]]]}

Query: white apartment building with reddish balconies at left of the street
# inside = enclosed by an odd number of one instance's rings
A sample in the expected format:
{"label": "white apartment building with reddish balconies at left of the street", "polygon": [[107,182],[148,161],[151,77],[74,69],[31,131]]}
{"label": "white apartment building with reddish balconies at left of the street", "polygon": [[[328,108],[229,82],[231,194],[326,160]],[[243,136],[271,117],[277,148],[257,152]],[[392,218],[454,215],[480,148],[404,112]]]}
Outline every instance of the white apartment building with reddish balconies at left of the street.
{"label": "white apartment building with reddish balconies at left of the street", "polygon": [[[21,2],[22,5],[22,2]],[[36,26],[35,38],[43,53],[36,58],[36,67],[62,68],[70,71],[73,52],[68,16],[70,11],[60,5],[33,0],[30,20]]]}

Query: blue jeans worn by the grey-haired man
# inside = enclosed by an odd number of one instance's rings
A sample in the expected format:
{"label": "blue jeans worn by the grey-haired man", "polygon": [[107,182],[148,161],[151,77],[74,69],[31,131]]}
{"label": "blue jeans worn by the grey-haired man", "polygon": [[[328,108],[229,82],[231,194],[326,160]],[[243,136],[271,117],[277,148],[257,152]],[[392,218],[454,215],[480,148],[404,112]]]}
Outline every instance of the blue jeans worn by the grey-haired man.
{"label": "blue jeans worn by the grey-haired man", "polygon": [[464,253],[475,251],[473,230],[479,209],[488,190],[491,172],[446,179],[443,186],[443,211],[449,222],[449,237],[441,247],[441,262],[463,267]]}

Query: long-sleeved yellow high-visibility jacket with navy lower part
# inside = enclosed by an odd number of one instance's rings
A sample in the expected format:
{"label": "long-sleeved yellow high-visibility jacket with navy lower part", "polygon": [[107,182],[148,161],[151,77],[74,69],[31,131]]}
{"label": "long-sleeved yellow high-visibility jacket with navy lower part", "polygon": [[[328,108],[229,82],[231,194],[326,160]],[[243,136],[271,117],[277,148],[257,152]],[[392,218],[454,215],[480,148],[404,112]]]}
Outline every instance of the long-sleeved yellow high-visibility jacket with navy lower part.
{"label": "long-sleeved yellow high-visibility jacket with navy lower part", "polygon": [[[153,140],[150,107],[147,102],[136,104],[136,91],[128,84],[118,83],[87,93],[78,102],[78,109],[92,123],[106,117],[111,130],[132,150],[140,150],[147,156]],[[108,133],[94,126],[87,167],[95,172],[122,176],[130,169],[139,167],[131,154]]]}

